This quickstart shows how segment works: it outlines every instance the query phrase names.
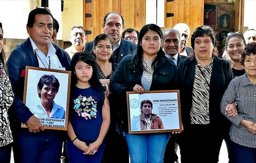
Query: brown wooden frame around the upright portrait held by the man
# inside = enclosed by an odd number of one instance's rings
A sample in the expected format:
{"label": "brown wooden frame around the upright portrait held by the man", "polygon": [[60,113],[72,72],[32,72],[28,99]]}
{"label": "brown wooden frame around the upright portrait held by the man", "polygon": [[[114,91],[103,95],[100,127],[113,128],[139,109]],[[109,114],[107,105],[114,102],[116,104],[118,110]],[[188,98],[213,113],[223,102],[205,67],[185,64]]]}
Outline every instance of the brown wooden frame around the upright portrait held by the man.
{"label": "brown wooden frame around the upright portrait held by the man", "polygon": [[[45,129],[54,129],[54,130],[68,130],[68,110],[69,110],[69,98],[70,98],[70,82],[71,82],[71,72],[70,71],[63,71],[63,70],[54,70],[54,69],[43,69],[39,67],[31,67],[26,66],[25,72],[25,82],[24,82],[24,96],[23,96],[23,103],[26,105],[26,97],[27,97],[27,84],[28,84],[28,71],[29,70],[39,70],[45,72],[58,72],[58,73],[65,73],[69,74],[68,78],[68,92],[67,92],[67,108],[66,108],[66,123],[65,127],[44,127]],[[27,128],[28,126],[22,123],[22,127]]]}

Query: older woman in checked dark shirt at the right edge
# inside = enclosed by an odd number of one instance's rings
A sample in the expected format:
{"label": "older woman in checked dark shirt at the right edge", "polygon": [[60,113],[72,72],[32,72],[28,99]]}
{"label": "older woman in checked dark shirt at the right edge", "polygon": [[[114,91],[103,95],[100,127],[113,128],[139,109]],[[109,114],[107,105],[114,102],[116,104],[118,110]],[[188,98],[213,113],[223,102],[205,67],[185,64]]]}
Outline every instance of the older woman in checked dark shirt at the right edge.
{"label": "older woman in checked dark shirt at the right edge", "polygon": [[[256,160],[256,42],[245,46],[241,65],[245,74],[228,85],[221,102],[221,112],[232,123],[230,127],[231,163],[252,163]],[[226,106],[237,103],[237,116],[227,116]]]}

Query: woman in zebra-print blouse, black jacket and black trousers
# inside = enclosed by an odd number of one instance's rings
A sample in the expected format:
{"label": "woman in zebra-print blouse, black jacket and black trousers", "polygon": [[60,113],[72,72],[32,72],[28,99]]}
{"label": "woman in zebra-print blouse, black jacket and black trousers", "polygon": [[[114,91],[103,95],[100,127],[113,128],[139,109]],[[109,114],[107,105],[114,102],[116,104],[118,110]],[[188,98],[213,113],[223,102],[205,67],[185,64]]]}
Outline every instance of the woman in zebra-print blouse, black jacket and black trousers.
{"label": "woman in zebra-print blouse, black jacket and black trousers", "polygon": [[210,26],[196,28],[191,47],[195,55],[181,60],[178,67],[184,126],[178,138],[181,161],[217,163],[230,127],[219,108],[233,74],[228,61],[213,55],[216,40]]}

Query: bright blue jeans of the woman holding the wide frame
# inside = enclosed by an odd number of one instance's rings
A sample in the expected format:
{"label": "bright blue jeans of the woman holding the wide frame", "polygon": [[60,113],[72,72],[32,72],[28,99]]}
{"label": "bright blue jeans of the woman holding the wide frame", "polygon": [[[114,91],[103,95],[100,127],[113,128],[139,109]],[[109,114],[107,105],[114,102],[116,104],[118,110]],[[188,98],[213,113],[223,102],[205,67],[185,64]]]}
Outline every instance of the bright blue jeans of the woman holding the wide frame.
{"label": "bright blue jeans of the woman holding the wide frame", "polygon": [[131,163],[162,163],[170,134],[134,135],[125,133]]}

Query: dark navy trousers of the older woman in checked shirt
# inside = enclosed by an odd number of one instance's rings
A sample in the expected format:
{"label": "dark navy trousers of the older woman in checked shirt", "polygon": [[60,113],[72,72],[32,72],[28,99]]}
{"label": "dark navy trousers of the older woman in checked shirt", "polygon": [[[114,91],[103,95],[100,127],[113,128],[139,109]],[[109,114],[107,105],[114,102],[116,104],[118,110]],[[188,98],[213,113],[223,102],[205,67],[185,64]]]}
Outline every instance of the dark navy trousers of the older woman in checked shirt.
{"label": "dark navy trousers of the older woman in checked shirt", "polygon": [[253,163],[256,160],[256,149],[230,141],[230,156],[231,163]]}

